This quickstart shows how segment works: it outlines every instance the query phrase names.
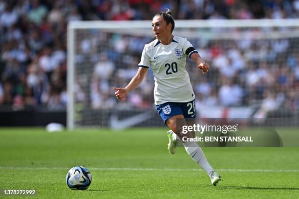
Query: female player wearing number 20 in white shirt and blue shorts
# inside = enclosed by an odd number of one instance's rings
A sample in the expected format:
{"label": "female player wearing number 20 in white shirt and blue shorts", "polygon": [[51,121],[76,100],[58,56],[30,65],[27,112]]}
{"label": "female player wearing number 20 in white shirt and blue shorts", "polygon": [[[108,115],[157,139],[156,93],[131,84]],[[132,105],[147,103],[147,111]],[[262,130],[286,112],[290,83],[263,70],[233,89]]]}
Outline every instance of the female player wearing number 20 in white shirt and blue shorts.
{"label": "female player wearing number 20 in white shirt and blue shorts", "polygon": [[[191,58],[203,74],[208,72],[209,65],[201,59],[187,39],[172,35],[174,20],[169,9],[156,14],[151,26],[156,40],[144,46],[137,74],[125,88],[114,88],[115,96],[119,100],[124,99],[141,84],[151,67],[155,81],[155,104],[161,118],[171,129],[168,131],[168,149],[174,154],[179,138],[182,140],[183,136],[194,137],[194,133],[182,134],[176,129],[177,119],[187,119],[187,125],[195,122],[195,96],[186,71],[186,57]],[[188,155],[208,173],[212,184],[216,186],[220,176],[211,167],[198,144],[186,141],[183,145]]]}

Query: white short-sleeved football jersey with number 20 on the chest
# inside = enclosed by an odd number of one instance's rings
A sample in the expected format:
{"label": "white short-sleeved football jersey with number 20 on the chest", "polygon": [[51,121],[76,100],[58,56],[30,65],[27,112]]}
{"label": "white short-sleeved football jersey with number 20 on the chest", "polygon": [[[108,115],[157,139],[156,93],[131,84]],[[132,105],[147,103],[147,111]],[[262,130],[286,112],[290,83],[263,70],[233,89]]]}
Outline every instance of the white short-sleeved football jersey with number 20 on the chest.
{"label": "white short-sleeved football jersey with number 20 on the chest", "polygon": [[[186,51],[188,49],[188,55]],[[149,68],[154,75],[155,104],[194,100],[186,58],[197,53],[185,38],[174,36],[169,45],[154,40],[144,46],[139,67]]]}

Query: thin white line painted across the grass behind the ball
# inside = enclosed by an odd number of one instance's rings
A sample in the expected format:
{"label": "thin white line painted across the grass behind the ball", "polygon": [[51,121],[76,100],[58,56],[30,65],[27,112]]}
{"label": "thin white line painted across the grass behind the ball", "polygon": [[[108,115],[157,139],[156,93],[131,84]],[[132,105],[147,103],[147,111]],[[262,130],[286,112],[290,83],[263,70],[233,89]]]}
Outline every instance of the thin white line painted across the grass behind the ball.
{"label": "thin white line painted across the grass behind the ball", "polygon": [[[5,167],[1,166],[0,169],[37,169],[37,170],[68,170],[65,167]],[[202,169],[179,169],[179,168],[101,168],[101,167],[88,167],[89,170],[112,170],[112,171],[202,171]],[[299,170],[292,169],[215,169],[216,171],[227,172],[299,172]]]}

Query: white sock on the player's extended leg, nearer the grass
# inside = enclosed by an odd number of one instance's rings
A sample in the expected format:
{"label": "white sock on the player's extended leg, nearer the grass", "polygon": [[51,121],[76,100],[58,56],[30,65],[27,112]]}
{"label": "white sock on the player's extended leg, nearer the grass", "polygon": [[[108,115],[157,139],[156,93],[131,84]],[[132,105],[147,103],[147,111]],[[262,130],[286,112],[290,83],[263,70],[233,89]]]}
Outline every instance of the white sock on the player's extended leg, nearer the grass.
{"label": "white sock on the player's extended leg, nearer the grass", "polygon": [[187,141],[183,143],[188,155],[199,165],[201,166],[208,174],[211,171],[214,171],[212,166],[209,164],[206,159],[205,154],[194,141]]}

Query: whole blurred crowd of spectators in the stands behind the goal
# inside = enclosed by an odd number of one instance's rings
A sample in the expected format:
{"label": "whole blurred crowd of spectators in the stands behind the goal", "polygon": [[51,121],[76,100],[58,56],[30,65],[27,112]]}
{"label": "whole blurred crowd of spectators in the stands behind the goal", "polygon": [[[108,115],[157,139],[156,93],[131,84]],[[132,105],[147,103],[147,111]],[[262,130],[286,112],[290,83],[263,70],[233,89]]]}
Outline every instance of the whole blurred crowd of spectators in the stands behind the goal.
{"label": "whole blurred crowd of spectators in the stands behind the goal", "polygon": [[[0,0],[0,104],[65,108],[69,21],[151,20],[166,8],[171,8],[175,19],[299,17],[299,0]],[[93,42],[85,36],[76,61],[83,63],[89,56],[93,65],[90,77],[78,77],[76,100],[94,109],[113,107],[117,101],[111,86],[128,83],[136,73],[144,43],[152,38],[117,34],[101,38],[96,34],[96,49],[112,49],[101,52],[93,51]],[[201,76],[188,61],[198,103],[241,106],[260,101],[265,110],[280,105],[299,107],[298,39],[225,45],[193,42],[212,66],[209,75]],[[122,103],[151,107],[152,78],[149,73],[141,88]],[[90,81],[88,88],[80,85],[86,79]]]}

